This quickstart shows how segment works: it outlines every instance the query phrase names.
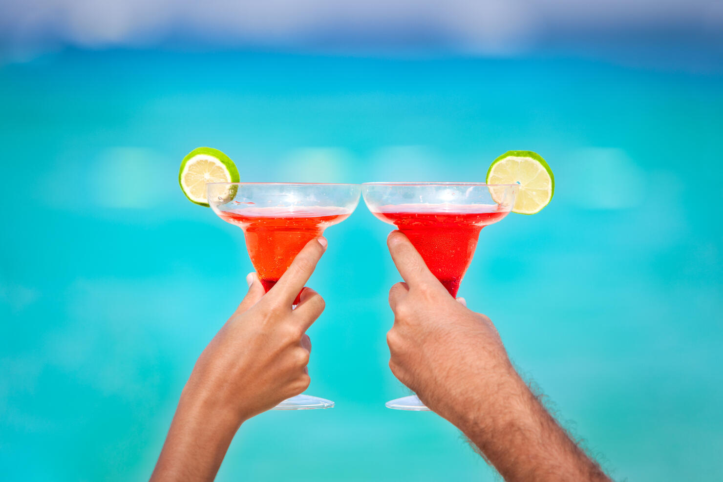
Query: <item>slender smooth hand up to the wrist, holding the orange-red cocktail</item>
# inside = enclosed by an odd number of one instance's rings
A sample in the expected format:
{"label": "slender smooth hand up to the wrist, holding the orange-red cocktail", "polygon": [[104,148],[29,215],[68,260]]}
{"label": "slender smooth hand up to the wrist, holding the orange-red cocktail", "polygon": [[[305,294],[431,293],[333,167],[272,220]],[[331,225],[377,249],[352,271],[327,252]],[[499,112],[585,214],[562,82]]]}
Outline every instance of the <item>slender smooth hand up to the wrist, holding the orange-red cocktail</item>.
{"label": "slender smooth hand up to the wrist, holding the orange-red cocktail", "polygon": [[304,332],[325,304],[304,283],[324,250],[309,241],[266,294],[257,275],[249,274],[247,296],[201,353],[184,392],[213,400],[240,423],[307,389],[311,345]]}

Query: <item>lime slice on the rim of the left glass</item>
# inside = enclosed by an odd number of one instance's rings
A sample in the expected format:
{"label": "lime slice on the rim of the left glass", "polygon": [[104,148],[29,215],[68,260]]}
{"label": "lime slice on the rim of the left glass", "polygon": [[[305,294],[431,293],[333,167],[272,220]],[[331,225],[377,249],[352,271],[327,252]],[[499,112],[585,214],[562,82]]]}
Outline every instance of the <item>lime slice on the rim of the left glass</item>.
{"label": "lime slice on the rim of the left glass", "polygon": [[191,202],[208,207],[206,184],[209,182],[239,182],[239,170],[220,150],[197,147],[181,162],[181,190]]}

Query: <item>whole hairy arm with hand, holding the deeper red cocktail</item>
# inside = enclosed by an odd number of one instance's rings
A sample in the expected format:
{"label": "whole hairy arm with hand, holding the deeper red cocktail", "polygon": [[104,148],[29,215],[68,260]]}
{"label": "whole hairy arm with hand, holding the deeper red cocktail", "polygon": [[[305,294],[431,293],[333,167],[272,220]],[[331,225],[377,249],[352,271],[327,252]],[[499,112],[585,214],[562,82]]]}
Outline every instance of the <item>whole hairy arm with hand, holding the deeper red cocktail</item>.
{"label": "whole hairy arm with hand, holding the deeper red cocktail", "polygon": [[452,298],[402,233],[390,233],[388,246],[405,281],[389,292],[393,374],[505,481],[609,482],[517,374],[489,318]]}

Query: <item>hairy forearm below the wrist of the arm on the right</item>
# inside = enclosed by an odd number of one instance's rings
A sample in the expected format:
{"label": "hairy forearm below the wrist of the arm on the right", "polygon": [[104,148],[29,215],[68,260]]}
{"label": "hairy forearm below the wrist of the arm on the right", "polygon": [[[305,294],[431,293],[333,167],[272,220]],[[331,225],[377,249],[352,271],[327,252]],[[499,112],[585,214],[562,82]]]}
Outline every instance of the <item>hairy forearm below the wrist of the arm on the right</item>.
{"label": "hairy forearm below the wrist of the arm on the right", "polygon": [[505,481],[609,481],[514,372],[474,414],[453,421]]}

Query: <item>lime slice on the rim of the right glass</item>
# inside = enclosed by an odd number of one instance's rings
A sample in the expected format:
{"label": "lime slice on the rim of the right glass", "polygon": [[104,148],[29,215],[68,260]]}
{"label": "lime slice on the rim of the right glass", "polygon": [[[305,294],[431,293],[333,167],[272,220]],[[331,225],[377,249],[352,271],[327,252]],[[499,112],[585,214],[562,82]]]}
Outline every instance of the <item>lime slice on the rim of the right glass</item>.
{"label": "lime slice on the rim of the right glass", "polygon": [[[510,150],[492,162],[487,184],[519,184],[512,212],[535,214],[549,205],[555,193],[555,176],[541,155],[530,150]],[[492,199],[502,202],[502,190],[489,188]]]}

